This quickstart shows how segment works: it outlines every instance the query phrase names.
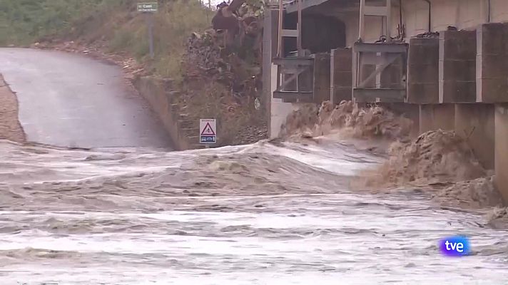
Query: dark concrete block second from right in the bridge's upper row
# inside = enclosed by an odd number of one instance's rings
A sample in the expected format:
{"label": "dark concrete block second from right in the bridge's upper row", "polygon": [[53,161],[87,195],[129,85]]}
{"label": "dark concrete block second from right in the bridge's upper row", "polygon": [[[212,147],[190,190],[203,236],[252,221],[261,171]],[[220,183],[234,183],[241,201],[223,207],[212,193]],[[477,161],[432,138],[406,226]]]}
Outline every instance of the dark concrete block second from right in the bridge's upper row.
{"label": "dark concrete block second from right in the bridge's upper row", "polygon": [[440,103],[476,101],[476,31],[440,32]]}

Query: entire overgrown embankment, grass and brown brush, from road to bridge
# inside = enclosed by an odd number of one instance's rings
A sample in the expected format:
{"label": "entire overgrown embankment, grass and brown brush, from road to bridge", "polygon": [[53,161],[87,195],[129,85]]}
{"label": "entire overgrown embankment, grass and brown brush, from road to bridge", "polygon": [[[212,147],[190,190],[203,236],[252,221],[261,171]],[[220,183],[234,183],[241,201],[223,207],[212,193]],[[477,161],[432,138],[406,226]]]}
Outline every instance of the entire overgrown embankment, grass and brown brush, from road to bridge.
{"label": "entire overgrown embankment, grass and brown brush, from road to bridge", "polygon": [[215,11],[200,1],[158,2],[154,58],[148,15],[128,0],[0,0],[0,46],[77,51],[117,63],[133,82],[171,82],[164,93],[191,147],[198,142],[199,118],[218,118],[219,145],[265,138],[264,108],[255,108],[260,58],[245,49],[249,43],[223,48],[222,37],[210,31]]}

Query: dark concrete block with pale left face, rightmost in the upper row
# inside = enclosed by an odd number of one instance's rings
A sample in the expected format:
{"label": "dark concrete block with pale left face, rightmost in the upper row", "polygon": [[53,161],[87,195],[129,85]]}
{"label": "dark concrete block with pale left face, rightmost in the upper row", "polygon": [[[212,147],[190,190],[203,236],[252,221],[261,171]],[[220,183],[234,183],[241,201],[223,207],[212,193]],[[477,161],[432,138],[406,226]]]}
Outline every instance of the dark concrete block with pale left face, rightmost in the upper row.
{"label": "dark concrete block with pale left face, rightmost in the upper row", "polygon": [[508,24],[477,28],[477,102],[508,102]]}

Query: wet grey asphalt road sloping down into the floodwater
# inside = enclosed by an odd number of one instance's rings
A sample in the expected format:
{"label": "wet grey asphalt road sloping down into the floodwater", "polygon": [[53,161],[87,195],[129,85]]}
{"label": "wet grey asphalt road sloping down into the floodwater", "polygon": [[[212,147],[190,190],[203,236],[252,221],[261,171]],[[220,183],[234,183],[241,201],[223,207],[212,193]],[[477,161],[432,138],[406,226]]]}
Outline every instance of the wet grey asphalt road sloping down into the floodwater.
{"label": "wet grey asphalt road sloping down into the floodwater", "polygon": [[61,147],[166,147],[171,139],[121,68],[58,51],[0,48],[27,140]]}

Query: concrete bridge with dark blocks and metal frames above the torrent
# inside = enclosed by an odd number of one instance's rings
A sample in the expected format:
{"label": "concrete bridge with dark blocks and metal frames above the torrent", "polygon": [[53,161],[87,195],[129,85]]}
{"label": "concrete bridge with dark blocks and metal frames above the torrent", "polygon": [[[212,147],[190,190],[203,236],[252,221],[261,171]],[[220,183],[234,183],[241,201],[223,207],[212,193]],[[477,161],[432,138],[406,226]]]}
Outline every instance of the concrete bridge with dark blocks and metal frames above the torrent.
{"label": "concrete bridge with dark blocks and metal frames above the torrent", "polygon": [[505,21],[504,0],[275,3],[263,35],[270,136],[299,103],[395,104],[415,121],[415,133],[455,130],[467,138],[508,203]]}

